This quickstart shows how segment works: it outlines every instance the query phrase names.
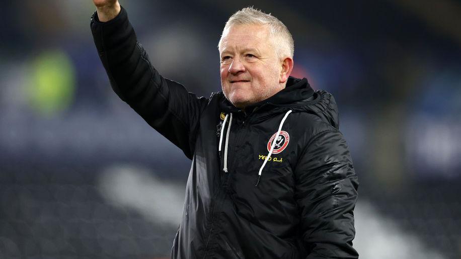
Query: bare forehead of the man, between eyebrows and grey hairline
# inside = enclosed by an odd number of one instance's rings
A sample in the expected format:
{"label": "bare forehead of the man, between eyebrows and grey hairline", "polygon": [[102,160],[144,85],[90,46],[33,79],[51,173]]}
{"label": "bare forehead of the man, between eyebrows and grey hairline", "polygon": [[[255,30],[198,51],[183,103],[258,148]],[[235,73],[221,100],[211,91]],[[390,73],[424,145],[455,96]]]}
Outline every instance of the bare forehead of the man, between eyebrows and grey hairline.
{"label": "bare forehead of the man, between eyebrows and grey hairline", "polygon": [[266,25],[233,25],[222,33],[220,51],[235,48],[268,46],[269,27]]}

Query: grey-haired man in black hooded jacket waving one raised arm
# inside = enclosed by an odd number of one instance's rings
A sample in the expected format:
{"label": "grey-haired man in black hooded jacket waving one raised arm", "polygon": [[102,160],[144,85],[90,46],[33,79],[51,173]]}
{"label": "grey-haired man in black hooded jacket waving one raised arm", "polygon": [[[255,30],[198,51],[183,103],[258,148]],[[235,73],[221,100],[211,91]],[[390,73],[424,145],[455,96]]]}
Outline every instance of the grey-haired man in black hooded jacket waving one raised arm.
{"label": "grey-haired man in black hooded jacket waving one raised arm", "polygon": [[197,98],[151,66],[117,1],[93,1],[113,90],[192,159],[172,258],[358,257],[358,183],[336,103],[289,77],[293,40],[279,20],[252,8],[229,18],[223,92]]}

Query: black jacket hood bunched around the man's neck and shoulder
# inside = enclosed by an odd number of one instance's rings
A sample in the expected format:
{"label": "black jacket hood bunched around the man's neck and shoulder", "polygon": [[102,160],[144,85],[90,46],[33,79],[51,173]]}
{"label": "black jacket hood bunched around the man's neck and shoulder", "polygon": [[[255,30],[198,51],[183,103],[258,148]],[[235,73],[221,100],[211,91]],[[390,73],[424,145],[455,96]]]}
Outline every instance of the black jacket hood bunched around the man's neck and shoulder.
{"label": "black jacket hood bunched around the man's neck and shoulder", "polygon": [[[226,98],[222,99],[220,106],[225,113],[243,113]],[[314,91],[306,78],[290,76],[285,89],[266,100],[248,106],[245,113],[258,113],[265,118],[268,114],[285,113],[287,110],[292,110],[293,113],[307,112],[317,115],[324,122],[336,129],[339,128],[338,107],[334,97],[323,90]]]}

